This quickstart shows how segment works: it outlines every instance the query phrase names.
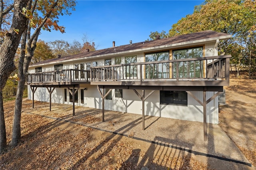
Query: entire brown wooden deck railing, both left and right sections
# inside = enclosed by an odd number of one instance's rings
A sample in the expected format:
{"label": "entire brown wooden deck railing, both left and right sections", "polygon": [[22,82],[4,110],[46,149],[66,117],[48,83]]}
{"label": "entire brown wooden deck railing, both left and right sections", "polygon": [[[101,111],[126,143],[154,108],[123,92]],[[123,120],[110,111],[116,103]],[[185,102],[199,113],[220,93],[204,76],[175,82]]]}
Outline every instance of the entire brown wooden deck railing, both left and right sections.
{"label": "entire brown wooden deck railing, both left and right sections", "polygon": [[28,83],[88,81],[182,81],[189,79],[226,80],[231,55],[173,59],[91,67],[90,71],[66,69],[30,73]]}

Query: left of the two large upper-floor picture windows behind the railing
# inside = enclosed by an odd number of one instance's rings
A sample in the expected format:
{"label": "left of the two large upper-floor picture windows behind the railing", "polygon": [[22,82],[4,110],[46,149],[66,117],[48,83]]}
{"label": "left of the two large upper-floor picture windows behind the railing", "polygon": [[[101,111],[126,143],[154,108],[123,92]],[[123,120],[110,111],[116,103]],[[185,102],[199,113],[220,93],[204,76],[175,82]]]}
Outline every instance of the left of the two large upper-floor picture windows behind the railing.
{"label": "left of the two large upper-floor picture windows behind the railing", "polygon": [[[146,62],[163,61],[169,59],[169,51],[148,53],[145,55]],[[146,64],[147,79],[169,78],[169,63]]]}

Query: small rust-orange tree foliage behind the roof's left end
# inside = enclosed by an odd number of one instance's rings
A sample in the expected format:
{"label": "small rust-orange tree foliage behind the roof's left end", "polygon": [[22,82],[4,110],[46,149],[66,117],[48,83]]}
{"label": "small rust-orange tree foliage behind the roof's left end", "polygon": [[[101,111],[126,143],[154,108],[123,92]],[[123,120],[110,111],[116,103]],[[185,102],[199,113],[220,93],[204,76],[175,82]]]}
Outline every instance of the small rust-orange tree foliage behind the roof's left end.
{"label": "small rust-orange tree foliage behind the roof's left end", "polygon": [[47,59],[54,58],[52,50],[47,42],[38,40],[36,42],[36,49],[34,51],[34,56],[31,59],[31,63],[38,63]]}

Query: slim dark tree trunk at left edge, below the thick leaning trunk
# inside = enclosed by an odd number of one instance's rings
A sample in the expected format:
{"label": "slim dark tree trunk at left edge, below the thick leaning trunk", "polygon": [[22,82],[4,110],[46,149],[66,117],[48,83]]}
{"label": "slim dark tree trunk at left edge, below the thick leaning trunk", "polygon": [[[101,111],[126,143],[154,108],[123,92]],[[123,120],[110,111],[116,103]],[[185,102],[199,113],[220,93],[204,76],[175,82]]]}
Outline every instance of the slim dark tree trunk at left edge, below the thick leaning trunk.
{"label": "slim dark tree trunk at left edge, below the thick leaning trunk", "polygon": [[2,90],[0,90],[0,152],[6,147],[6,130],[4,121],[4,105]]}

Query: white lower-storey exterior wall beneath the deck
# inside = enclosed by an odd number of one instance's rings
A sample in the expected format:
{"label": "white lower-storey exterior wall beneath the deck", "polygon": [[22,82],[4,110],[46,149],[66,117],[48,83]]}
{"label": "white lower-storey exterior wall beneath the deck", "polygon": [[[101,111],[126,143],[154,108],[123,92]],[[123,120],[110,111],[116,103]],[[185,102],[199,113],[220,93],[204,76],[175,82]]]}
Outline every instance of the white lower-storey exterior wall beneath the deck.
{"label": "white lower-storey exterior wall beneath the deck", "polygon": [[[84,103],[80,103],[80,90],[78,90],[78,103],[84,107],[102,109],[102,99],[96,85],[87,85],[88,90],[84,90]],[[28,89],[28,99],[32,99],[32,91]],[[101,89],[102,90],[102,89]],[[137,90],[140,95],[142,90]],[[124,113],[135,113],[142,115],[142,101],[133,90],[123,89],[123,98],[115,97],[115,90],[112,89],[112,100],[105,99],[105,109],[120,111]],[[145,91],[145,96],[150,90]],[[202,91],[192,91],[192,93],[202,101]],[[206,93],[206,100],[214,95],[214,92]],[[49,93],[46,88],[38,88],[34,95],[37,101],[49,102]],[[67,91],[67,102],[64,102],[64,89],[56,88],[52,93],[52,103],[64,103],[72,105],[69,102],[69,93]],[[215,106],[215,107],[214,107]],[[218,124],[218,100],[212,100],[207,104],[207,122]],[[188,95],[188,106],[160,105],[160,92],[155,91],[145,101],[145,115],[180,119],[186,121],[203,122],[203,107]]]}

